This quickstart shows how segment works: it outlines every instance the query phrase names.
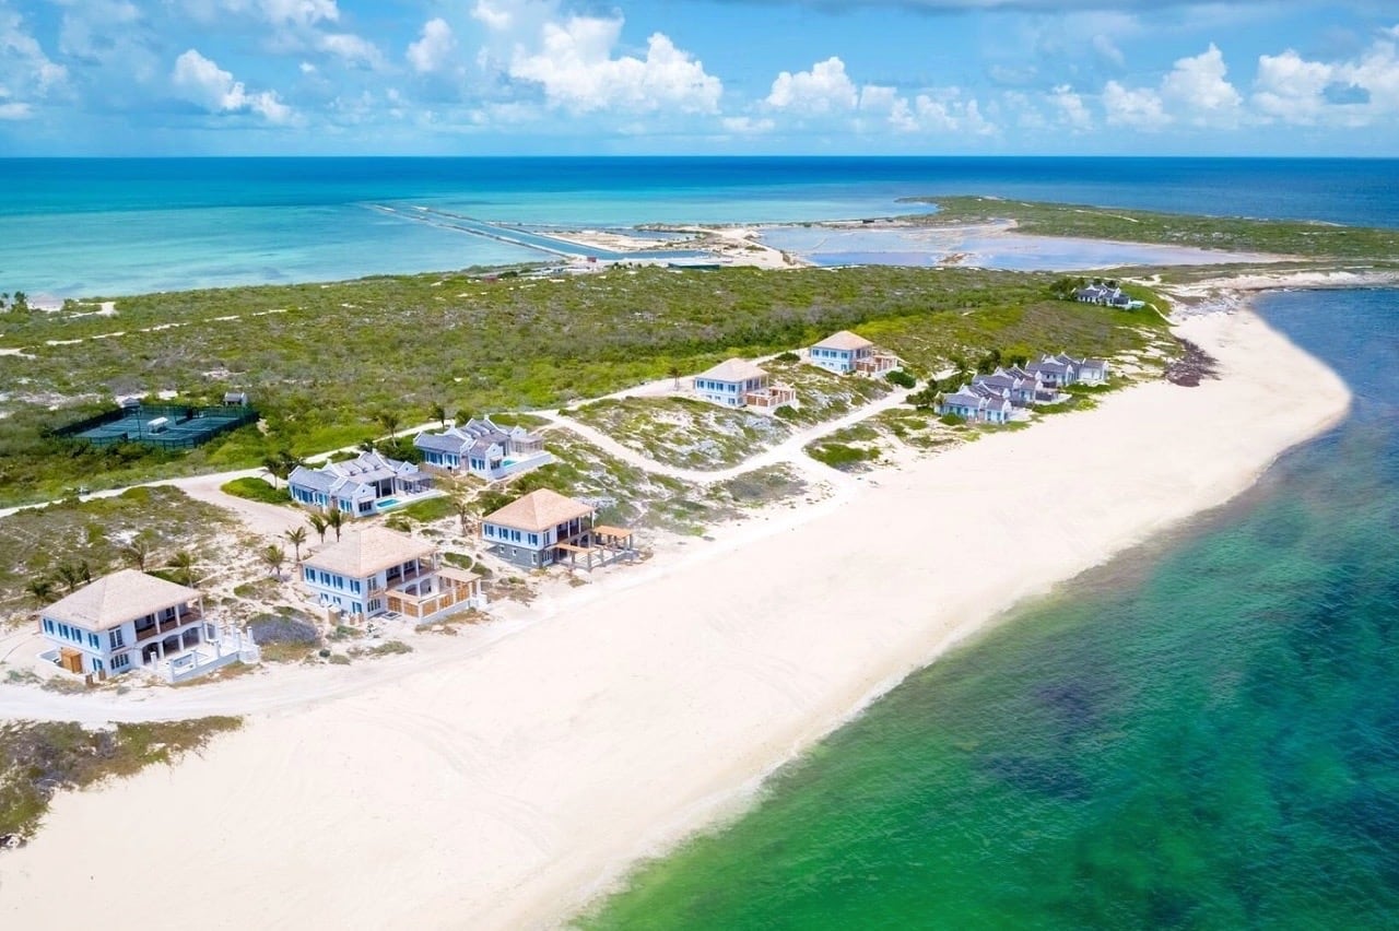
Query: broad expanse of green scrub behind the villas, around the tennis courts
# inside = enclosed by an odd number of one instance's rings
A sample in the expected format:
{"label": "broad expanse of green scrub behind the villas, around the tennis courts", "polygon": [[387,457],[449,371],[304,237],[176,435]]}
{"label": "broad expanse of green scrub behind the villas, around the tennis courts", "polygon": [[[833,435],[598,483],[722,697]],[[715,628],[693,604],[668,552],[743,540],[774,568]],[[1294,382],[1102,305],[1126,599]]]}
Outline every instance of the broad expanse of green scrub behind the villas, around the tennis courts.
{"label": "broad expanse of green scrub behind the villas, around the tennis courts", "polygon": [[[7,315],[0,348],[22,352],[0,355],[0,506],[353,446],[382,436],[386,417],[413,425],[439,411],[568,404],[841,329],[916,370],[992,347],[1111,355],[1161,333],[1156,315],[1053,301],[1049,282],[876,267],[434,274],[119,298],[113,317]],[[151,337],[157,326],[166,329]],[[385,340],[390,331],[404,338]],[[229,389],[250,391],[263,419],[189,453],[95,449],[48,432],[113,394],[171,390],[203,403]]]}

